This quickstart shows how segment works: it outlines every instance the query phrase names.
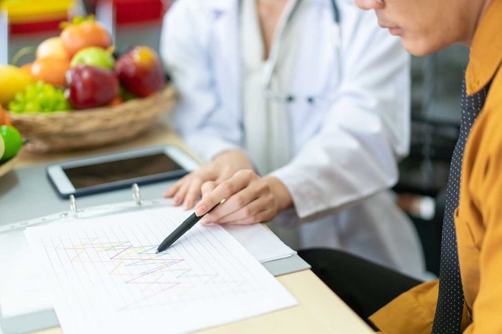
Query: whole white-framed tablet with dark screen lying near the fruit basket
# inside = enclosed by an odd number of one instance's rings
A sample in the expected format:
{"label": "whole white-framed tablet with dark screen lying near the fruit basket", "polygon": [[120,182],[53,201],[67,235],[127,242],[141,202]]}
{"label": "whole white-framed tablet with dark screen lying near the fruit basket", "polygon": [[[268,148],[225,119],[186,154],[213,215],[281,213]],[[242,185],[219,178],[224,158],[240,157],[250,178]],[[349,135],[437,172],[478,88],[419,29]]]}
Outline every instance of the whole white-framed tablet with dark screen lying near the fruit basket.
{"label": "whole white-framed tablet with dark screen lying near the fruit basket", "polygon": [[197,166],[181,148],[157,146],[52,164],[46,171],[58,195],[68,198],[177,179]]}

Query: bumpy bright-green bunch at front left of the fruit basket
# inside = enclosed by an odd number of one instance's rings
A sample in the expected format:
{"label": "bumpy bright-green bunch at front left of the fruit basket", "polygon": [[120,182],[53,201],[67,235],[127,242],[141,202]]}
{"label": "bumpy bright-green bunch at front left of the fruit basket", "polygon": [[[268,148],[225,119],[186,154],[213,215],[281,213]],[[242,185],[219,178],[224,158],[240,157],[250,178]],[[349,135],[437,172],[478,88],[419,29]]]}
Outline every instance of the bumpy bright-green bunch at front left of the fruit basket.
{"label": "bumpy bright-green bunch at front left of the fruit basket", "polygon": [[17,93],[9,103],[12,113],[51,113],[53,111],[69,111],[72,107],[65,98],[62,89],[58,89],[43,81],[37,81]]}

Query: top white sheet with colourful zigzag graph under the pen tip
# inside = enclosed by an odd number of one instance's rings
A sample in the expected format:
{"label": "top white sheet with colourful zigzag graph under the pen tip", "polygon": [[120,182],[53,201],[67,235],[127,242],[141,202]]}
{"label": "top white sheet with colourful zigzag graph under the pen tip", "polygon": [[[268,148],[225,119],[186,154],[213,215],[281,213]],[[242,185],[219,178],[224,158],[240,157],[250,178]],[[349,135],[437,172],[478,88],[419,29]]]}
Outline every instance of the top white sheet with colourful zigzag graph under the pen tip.
{"label": "top white sheet with colourful zigzag graph under the pen tip", "polygon": [[296,304],[218,225],[196,225],[166,252],[179,208],[32,227],[65,333],[186,333]]}

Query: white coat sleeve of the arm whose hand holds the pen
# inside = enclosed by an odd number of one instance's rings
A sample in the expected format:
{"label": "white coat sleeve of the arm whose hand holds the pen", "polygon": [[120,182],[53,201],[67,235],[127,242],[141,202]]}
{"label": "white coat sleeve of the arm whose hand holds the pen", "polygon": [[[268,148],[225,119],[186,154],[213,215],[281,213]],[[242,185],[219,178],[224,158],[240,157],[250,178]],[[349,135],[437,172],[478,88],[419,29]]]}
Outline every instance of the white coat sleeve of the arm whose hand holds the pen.
{"label": "white coat sleeve of the arm whose hand holds the pen", "polygon": [[[409,146],[409,56],[373,13],[342,23],[342,76],[322,129],[272,172],[302,220],[393,186]],[[353,22],[353,23],[352,23]]]}

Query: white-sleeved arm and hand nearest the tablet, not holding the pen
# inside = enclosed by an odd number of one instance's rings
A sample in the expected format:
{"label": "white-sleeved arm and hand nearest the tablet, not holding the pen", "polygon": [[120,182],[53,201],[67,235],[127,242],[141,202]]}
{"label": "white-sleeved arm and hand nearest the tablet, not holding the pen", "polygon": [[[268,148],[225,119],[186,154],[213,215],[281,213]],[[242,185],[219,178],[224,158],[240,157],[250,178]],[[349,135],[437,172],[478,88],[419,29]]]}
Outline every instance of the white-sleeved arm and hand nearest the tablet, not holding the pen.
{"label": "white-sleeved arm and hand nearest the tablet, not holding the pen", "polygon": [[[193,207],[204,181],[221,181],[252,168],[241,146],[239,110],[219,87],[215,47],[215,13],[204,1],[179,1],[166,14],[162,58],[179,93],[175,128],[186,144],[207,163],[164,193],[175,205]],[[223,54],[221,55],[223,57]],[[227,80],[230,81],[230,80]]]}

